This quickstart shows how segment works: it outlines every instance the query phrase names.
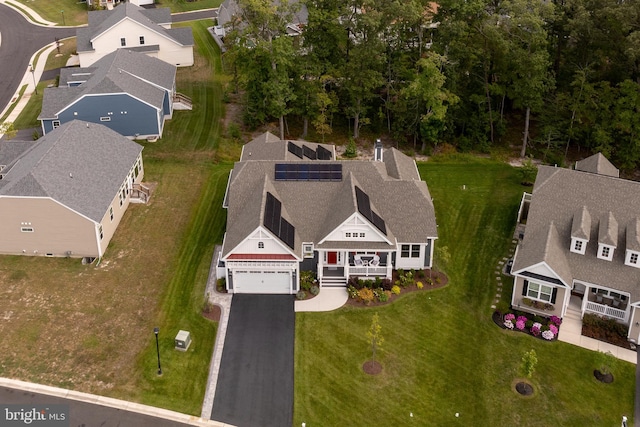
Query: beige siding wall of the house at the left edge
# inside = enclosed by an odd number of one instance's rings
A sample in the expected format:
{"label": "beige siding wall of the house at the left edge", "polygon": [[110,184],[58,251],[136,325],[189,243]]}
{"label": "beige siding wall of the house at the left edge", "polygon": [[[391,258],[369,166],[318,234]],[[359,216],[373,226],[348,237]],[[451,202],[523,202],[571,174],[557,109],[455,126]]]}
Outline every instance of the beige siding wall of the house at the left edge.
{"label": "beige siding wall of the house at the left edge", "polygon": [[99,255],[96,223],[50,198],[0,197],[0,218],[1,254]]}

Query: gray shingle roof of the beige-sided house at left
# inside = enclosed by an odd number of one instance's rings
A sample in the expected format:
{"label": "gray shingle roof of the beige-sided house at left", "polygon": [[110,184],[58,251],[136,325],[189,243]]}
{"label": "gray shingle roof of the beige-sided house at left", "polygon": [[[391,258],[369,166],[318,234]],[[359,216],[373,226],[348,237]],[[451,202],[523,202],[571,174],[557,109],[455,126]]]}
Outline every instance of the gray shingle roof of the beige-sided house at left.
{"label": "gray shingle roof of the beige-sided house at left", "polygon": [[31,143],[0,180],[0,197],[51,197],[100,222],[141,152],[105,126],[74,120]]}

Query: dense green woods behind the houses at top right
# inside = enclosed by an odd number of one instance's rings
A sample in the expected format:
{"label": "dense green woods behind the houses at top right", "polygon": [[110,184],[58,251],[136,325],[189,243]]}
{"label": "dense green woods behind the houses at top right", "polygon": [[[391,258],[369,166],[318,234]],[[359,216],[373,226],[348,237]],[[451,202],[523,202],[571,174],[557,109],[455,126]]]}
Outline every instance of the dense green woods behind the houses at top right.
{"label": "dense green woods behind the houses at top right", "polygon": [[421,151],[516,134],[522,157],[640,163],[639,1],[308,0],[301,37],[283,36],[300,4],[238,3],[225,63],[249,126],[279,119],[284,138],[297,117],[324,138],[342,119]]}

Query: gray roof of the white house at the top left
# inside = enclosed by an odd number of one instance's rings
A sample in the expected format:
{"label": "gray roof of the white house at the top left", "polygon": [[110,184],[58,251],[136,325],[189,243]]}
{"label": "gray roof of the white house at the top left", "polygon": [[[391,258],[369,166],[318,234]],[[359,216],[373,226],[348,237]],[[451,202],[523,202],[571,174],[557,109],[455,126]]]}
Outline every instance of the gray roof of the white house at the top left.
{"label": "gray roof of the white house at the top left", "polygon": [[[165,29],[160,24],[171,22],[169,8],[144,9],[132,3],[122,3],[113,10],[96,10],[89,12],[89,25],[76,31],[78,52],[93,50],[91,41],[106,30],[122,21],[131,19],[138,24],[160,33],[183,46],[193,46],[191,28]],[[187,34],[189,33],[189,34]]]}

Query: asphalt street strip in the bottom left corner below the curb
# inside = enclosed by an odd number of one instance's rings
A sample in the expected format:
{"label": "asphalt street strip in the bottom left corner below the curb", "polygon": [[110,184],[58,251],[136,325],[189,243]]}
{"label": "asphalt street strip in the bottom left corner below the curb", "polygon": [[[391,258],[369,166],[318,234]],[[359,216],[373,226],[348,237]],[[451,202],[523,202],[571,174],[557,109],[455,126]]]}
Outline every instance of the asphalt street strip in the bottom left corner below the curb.
{"label": "asphalt street strip in the bottom left corner below the curb", "polygon": [[[26,392],[12,388],[0,388],[0,405],[20,404],[28,410],[29,405],[69,405],[69,426],[82,427],[182,427],[188,424],[176,423],[162,418],[150,417],[135,412],[106,406],[93,405],[91,403],[62,399],[43,394]],[[0,413],[0,426],[15,425],[9,422],[5,424],[4,411]],[[24,425],[24,424],[22,424]],[[37,425],[35,423],[34,425]]]}

